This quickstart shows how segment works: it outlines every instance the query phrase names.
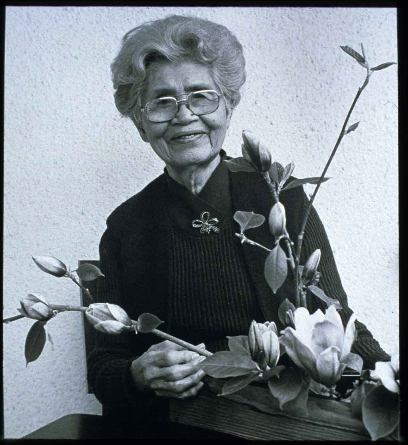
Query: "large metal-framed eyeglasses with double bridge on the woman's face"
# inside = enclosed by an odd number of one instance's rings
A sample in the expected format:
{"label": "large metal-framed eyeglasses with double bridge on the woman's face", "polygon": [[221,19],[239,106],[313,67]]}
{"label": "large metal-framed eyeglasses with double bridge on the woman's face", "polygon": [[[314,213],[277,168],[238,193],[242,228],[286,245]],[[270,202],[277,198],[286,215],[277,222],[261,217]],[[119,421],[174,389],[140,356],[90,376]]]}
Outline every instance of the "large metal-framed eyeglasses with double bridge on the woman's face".
{"label": "large metal-framed eyeglasses with double bridge on the woman's face", "polygon": [[184,99],[177,100],[176,97],[160,97],[144,105],[141,111],[146,112],[149,121],[165,122],[171,121],[180,109],[180,104],[185,102],[187,108],[194,114],[202,116],[204,114],[213,113],[220,105],[220,97],[223,94],[218,94],[212,89],[203,89],[194,91],[189,94],[182,94],[187,96]]}

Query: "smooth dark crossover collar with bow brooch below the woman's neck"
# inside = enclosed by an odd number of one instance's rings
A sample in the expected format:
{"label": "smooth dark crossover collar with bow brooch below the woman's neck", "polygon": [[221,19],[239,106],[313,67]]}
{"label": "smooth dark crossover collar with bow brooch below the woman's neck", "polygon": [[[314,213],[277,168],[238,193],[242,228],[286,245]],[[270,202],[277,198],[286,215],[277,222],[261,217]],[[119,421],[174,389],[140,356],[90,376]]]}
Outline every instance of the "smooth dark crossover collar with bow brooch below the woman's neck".
{"label": "smooth dark crossover collar with bow brooch below the woman's neck", "polygon": [[[226,158],[224,150],[221,150],[220,156],[221,161]],[[172,223],[191,236],[219,235],[216,229],[221,230],[224,227],[232,209],[228,167],[225,162],[218,164],[200,193],[196,195],[171,178],[166,168],[164,175],[168,191],[166,211]],[[193,227],[193,221],[197,227]],[[211,226],[209,232],[204,232],[204,229],[202,231],[201,227],[208,227],[208,224]]]}

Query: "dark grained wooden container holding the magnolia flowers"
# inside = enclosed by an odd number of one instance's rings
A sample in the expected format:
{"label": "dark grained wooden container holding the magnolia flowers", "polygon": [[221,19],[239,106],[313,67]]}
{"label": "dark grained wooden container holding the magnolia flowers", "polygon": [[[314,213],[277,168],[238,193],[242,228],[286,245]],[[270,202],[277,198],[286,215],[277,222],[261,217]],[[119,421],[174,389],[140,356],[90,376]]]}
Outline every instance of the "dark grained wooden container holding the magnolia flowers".
{"label": "dark grained wooden container holding the magnolia flowers", "polygon": [[197,397],[171,399],[171,420],[252,440],[370,440],[362,421],[344,401],[309,396],[307,410],[288,402],[282,411],[268,388],[249,385],[218,396],[223,384],[208,379]]}

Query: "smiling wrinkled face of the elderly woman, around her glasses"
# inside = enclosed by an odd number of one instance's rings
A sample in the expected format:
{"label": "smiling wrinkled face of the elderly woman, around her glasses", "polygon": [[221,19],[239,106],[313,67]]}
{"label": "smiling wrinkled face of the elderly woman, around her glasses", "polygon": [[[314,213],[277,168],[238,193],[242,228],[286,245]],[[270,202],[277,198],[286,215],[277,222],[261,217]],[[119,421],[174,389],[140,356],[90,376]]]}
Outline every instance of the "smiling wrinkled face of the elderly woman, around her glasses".
{"label": "smiling wrinkled face of the elderly woman, around her glasses", "polygon": [[[221,93],[207,67],[193,61],[157,62],[148,72],[142,104],[164,96],[178,98],[203,89]],[[231,118],[231,109],[225,104],[220,97],[216,111],[197,116],[182,102],[176,116],[166,122],[151,122],[142,113],[142,127],[138,127],[140,136],[173,169],[206,164],[216,158],[224,142]]]}

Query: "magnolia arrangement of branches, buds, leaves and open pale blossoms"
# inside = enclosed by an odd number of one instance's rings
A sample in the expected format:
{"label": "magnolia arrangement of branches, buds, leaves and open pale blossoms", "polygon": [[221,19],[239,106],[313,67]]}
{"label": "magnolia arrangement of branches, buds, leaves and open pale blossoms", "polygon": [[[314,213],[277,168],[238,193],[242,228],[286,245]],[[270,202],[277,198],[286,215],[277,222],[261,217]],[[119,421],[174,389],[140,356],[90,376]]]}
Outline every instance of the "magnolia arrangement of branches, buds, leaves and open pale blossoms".
{"label": "magnolia arrangement of branches, buds, leaves and open pale blossoms", "polygon": [[[320,273],[317,271],[321,257],[320,249],[314,251],[303,266],[300,265],[304,230],[316,193],[320,185],[329,179],[325,177],[325,174],[342,138],[356,130],[359,124],[356,122],[347,128],[352,110],[361,92],[368,85],[372,73],[393,65],[392,62],[387,62],[370,68],[363,45],[361,45],[362,55],[348,46],[341,46],[341,49],[363,66],[367,74],[363,85],[356,93],[332,154],[320,176],[290,180],[294,163],[291,162],[283,167],[278,162],[272,162],[268,148],[248,131],[242,134],[242,157],[226,161],[232,172],[256,172],[261,174],[268,184],[271,200],[274,202],[268,215],[269,230],[275,240],[273,249],[252,241],[246,235],[248,230],[259,227],[265,222],[264,215],[237,211],[234,220],[240,227],[240,232],[236,233],[236,236],[241,243],[249,243],[268,251],[264,263],[264,276],[274,293],[285,282],[289,264],[295,285],[292,301],[285,299],[278,311],[280,322],[285,326],[284,330],[278,332],[273,321],[257,323],[254,320],[247,336],[228,337],[229,351],[212,354],[205,348],[189,344],[157,329],[163,322],[153,314],[141,314],[138,320],[131,320],[128,314],[115,304],[93,303],[92,295],[76,277],[84,281],[103,277],[98,267],[84,263],[78,269],[71,271],[55,257],[37,256],[33,257],[33,260],[42,271],[57,278],[72,279],[83,289],[90,303],[88,306],[50,304],[39,292],[30,293],[21,299],[21,307],[17,309],[20,315],[3,321],[8,323],[23,317],[36,320],[26,339],[27,365],[37,360],[44,348],[45,324],[60,312],[84,312],[88,322],[100,332],[110,335],[120,335],[127,331],[134,331],[135,334],[151,332],[206,356],[200,364],[203,370],[214,378],[228,378],[223,385],[221,395],[237,392],[252,382],[264,384],[271,395],[279,401],[280,409],[284,409],[284,405],[288,402],[292,402],[291,406],[305,409],[309,391],[339,398],[336,384],[344,370],[350,368],[361,376],[360,383],[357,381],[353,390],[348,393],[352,413],[362,418],[373,440],[392,433],[398,425],[398,357],[393,356],[389,363],[378,362],[374,371],[363,371],[363,360],[351,352],[356,338],[354,326],[356,316],[351,316],[344,329],[337,312],[341,309],[339,302],[325,295],[324,291],[317,286],[320,278]],[[308,202],[295,248],[295,243],[286,230],[285,208],[279,196],[284,190],[306,183],[315,184],[316,188]],[[194,223],[196,223],[195,227],[201,227],[204,230],[211,221],[208,221],[208,215],[202,214],[201,220],[196,220]],[[320,309],[312,314],[308,312],[307,291],[324,301],[327,306],[325,313]],[[291,366],[279,364],[279,359],[283,354],[290,357]],[[385,412],[387,416],[384,416]]]}

